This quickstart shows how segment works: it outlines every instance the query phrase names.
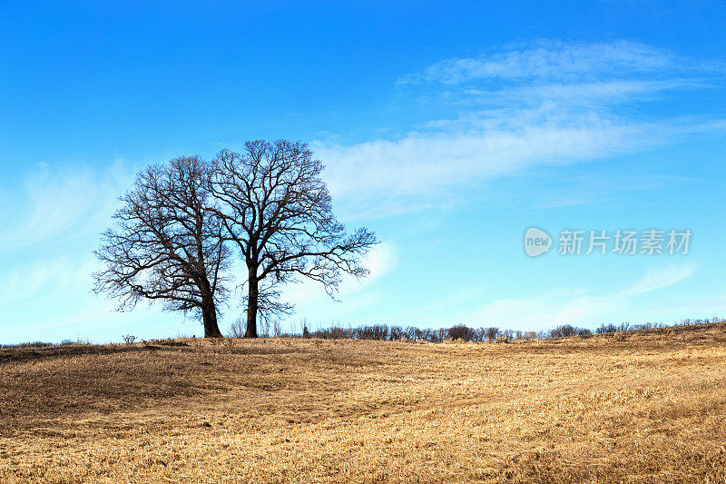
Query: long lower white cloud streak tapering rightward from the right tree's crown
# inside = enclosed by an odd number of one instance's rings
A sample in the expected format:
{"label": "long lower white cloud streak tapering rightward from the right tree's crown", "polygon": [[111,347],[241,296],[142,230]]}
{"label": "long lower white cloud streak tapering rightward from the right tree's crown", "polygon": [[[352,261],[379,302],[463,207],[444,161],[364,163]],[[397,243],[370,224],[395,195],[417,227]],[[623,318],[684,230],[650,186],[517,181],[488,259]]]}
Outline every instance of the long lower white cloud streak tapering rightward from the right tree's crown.
{"label": "long lower white cloud streak tapering rightward from the right tree's crown", "polygon": [[[494,123],[494,122],[492,122]],[[602,159],[671,143],[719,124],[619,123],[589,116],[575,123],[510,129],[408,133],[396,141],[318,145],[330,191],[347,218],[420,210],[484,180],[537,166]]]}

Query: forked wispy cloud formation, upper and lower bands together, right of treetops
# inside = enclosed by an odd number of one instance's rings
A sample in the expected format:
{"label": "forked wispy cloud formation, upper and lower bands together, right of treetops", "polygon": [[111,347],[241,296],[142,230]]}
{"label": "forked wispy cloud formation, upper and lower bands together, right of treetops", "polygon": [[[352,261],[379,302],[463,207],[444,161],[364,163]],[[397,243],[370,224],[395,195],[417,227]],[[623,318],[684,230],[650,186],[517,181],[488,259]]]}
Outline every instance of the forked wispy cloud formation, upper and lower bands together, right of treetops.
{"label": "forked wispy cloud formation, upper and lower bands together, right of treetops", "polygon": [[[462,187],[538,166],[603,159],[722,132],[721,119],[653,117],[615,109],[675,90],[721,86],[721,64],[627,41],[540,42],[450,59],[398,84],[453,115],[394,139],[316,143],[349,217],[427,208]],[[438,110],[440,112],[440,109]],[[351,175],[355,173],[355,175]],[[365,210],[360,207],[365,206]]]}

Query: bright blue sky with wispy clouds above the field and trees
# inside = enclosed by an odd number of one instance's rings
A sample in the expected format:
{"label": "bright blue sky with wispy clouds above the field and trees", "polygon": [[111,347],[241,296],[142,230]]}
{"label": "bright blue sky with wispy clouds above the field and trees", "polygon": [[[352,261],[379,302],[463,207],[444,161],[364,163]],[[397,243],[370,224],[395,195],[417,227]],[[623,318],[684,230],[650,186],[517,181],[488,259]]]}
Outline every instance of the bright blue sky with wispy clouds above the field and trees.
{"label": "bright blue sky with wispy clouds above the field and trees", "polygon": [[[261,4],[0,1],[0,343],[201,334],[114,312],[92,251],[140,168],[256,138],[309,141],[382,241],[283,329],[726,316],[722,2]],[[557,253],[652,228],[689,253]]]}

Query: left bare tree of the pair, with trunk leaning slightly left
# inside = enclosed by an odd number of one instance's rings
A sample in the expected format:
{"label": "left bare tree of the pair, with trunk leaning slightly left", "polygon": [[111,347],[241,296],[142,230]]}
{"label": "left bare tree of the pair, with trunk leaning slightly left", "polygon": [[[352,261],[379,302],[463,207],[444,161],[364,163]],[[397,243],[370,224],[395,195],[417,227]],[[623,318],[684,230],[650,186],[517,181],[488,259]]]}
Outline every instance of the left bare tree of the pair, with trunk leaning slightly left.
{"label": "left bare tree of the pair, with trunk leaning slightly left", "polygon": [[170,311],[201,315],[205,337],[221,337],[217,304],[224,299],[230,250],[211,202],[209,166],[180,157],[140,173],[114,226],[94,252],[103,262],[95,292],[118,298],[119,310],[161,300]]}

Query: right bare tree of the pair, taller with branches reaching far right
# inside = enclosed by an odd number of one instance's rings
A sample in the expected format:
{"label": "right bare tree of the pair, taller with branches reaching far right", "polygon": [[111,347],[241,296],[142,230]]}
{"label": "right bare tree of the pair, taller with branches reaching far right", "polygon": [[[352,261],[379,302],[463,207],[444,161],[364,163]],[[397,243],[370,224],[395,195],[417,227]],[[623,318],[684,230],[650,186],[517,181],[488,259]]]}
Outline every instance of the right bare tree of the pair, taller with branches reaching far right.
{"label": "right bare tree of the pair, taller with branches reaching far right", "polygon": [[309,278],[332,297],[342,273],[368,274],[360,260],[376,236],[365,228],[348,234],[336,220],[322,171],[306,143],[284,140],[248,142],[243,153],[223,150],[213,163],[217,214],[247,265],[249,338],[257,337],[259,312],[291,310],[279,300],[281,283]]}

